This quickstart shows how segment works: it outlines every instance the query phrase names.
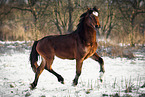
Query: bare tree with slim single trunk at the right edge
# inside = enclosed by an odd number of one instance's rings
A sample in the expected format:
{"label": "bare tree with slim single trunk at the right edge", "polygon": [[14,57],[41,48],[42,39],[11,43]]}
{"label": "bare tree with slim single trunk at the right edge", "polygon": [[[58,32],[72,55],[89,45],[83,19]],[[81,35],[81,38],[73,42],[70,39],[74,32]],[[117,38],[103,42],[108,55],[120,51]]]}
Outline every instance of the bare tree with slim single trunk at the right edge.
{"label": "bare tree with slim single trunk at the right edge", "polygon": [[123,19],[131,25],[131,46],[134,44],[134,27],[137,25],[135,19],[139,14],[145,13],[145,2],[143,0],[117,0],[117,5],[122,13]]}

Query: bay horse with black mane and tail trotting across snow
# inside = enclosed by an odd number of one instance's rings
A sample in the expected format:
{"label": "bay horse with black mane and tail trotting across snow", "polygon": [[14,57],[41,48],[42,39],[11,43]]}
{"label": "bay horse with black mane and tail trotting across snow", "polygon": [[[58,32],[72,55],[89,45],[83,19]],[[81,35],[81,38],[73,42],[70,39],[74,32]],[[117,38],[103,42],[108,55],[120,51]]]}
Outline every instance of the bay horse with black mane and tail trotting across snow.
{"label": "bay horse with black mane and tail trotting across snow", "polygon": [[[54,74],[58,81],[64,84],[63,77],[52,69],[54,56],[62,59],[76,59],[76,75],[73,85],[78,84],[83,61],[89,57],[99,62],[100,72],[105,72],[104,61],[96,53],[98,47],[96,42],[96,28],[100,27],[98,13],[96,7],[88,8],[80,16],[77,29],[72,33],[46,36],[34,42],[30,54],[30,63],[35,72],[35,79],[31,84],[31,89],[37,86],[38,78],[44,69]],[[37,64],[39,55],[42,57],[40,66]]]}

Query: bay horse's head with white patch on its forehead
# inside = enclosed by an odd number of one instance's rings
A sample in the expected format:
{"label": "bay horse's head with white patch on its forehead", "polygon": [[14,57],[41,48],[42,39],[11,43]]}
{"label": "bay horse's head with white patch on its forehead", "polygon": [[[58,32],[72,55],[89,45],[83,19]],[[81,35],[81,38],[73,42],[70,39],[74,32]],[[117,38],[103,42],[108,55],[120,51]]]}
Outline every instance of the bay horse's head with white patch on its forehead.
{"label": "bay horse's head with white patch on its forehead", "polygon": [[87,17],[89,18],[89,23],[91,23],[92,26],[96,27],[96,28],[100,28],[100,22],[99,22],[99,11],[96,7],[94,8],[88,8],[87,10]]}

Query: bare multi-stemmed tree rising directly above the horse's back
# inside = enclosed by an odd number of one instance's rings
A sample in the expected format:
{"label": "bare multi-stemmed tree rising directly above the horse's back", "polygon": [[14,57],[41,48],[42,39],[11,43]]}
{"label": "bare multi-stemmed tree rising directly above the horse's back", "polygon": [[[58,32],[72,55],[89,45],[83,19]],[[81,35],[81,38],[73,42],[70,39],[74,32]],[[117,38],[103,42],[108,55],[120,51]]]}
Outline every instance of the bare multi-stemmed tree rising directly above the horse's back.
{"label": "bare multi-stemmed tree rising directly above the horse's back", "polygon": [[74,11],[79,13],[78,6],[78,2],[72,0],[57,0],[55,2],[52,22],[56,25],[60,34],[73,31],[74,22],[79,16],[74,13]]}

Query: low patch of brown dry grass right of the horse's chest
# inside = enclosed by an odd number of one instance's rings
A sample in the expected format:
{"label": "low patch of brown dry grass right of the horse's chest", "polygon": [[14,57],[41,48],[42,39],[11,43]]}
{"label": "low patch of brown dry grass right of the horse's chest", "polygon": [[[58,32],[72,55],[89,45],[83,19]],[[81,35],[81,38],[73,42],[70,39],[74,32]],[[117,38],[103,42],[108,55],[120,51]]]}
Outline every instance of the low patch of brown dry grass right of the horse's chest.
{"label": "low patch of brown dry grass right of the horse's chest", "polygon": [[133,51],[130,47],[121,47],[116,44],[111,44],[110,42],[99,42],[98,53],[101,56],[115,57],[125,57],[132,59],[134,58]]}

